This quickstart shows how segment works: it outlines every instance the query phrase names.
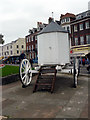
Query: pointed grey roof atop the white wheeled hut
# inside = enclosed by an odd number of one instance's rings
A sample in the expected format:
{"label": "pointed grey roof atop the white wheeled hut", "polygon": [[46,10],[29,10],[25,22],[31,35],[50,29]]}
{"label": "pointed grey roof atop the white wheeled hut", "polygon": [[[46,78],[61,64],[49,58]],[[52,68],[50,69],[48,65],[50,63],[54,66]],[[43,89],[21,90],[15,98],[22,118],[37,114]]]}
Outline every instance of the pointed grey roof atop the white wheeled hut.
{"label": "pointed grey roof atop the white wheeled hut", "polygon": [[39,32],[38,34],[42,34],[42,33],[49,33],[49,32],[65,32],[67,33],[67,31],[62,28],[60,25],[58,25],[56,22],[52,21],[50,24],[48,24],[41,32]]}

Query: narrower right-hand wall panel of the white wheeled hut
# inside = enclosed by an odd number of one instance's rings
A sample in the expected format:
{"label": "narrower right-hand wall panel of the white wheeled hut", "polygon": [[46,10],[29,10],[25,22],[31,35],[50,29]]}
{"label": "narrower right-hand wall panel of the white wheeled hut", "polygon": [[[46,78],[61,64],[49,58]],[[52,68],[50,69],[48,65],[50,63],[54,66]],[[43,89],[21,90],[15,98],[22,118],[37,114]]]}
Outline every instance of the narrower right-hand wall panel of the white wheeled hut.
{"label": "narrower right-hand wall panel of the white wheeled hut", "polygon": [[68,33],[58,33],[58,63],[66,64],[70,62]]}

